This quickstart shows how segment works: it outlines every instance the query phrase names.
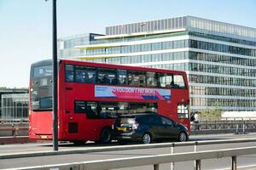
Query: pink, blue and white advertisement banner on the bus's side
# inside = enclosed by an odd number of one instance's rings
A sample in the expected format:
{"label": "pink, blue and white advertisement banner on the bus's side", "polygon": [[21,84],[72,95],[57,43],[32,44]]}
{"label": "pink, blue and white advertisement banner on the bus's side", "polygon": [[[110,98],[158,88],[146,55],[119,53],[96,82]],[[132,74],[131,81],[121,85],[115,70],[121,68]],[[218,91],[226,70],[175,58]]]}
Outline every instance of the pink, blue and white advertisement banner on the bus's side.
{"label": "pink, blue and white advertisement banner on the bus's side", "polygon": [[95,86],[96,98],[170,100],[171,89]]}

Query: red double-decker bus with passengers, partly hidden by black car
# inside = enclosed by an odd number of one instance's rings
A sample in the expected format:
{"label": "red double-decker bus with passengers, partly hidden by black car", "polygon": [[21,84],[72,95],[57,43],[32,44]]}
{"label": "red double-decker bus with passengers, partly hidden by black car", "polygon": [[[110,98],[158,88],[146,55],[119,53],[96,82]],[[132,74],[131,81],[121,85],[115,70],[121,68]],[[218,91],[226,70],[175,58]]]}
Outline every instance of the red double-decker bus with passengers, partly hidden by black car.
{"label": "red double-decker bus with passengers, partly hidden by black car", "polygon": [[[108,143],[115,118],[160,114],[189,126],[184,71],[61,59],[58,69],[58,139]],[[32,64],[29,137],[52,139],[52,63]]]}

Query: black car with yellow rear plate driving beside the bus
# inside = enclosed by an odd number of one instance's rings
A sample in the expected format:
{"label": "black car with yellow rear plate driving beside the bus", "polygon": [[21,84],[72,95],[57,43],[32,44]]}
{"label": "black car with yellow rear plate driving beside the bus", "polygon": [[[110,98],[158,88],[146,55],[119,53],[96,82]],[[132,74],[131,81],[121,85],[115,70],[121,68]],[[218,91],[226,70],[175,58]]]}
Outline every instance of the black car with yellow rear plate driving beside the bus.
{"label": "black car with yellow rear plate driving beside the bus", "polygon": [[125,140],[149,144],[153,140],[177,139],[187,141],[189,132],[172,119],[157,114],[137,114],[120,116],[113,124],[113,137],[119,143]]}

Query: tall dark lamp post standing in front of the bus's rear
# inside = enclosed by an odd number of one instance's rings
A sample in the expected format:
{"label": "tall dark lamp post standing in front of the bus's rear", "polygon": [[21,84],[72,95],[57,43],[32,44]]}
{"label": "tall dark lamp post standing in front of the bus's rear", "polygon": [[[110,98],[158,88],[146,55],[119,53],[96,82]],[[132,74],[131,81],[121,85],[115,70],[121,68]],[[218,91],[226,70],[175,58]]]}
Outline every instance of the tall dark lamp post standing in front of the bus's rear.
{"label": "tall dark lamp post standing in front of the bus's rear", "polygon": [[52,67],[53,67],[53,149],[58,150],[58,64],[57,64],[57,14],[56,0],[52,0]]}

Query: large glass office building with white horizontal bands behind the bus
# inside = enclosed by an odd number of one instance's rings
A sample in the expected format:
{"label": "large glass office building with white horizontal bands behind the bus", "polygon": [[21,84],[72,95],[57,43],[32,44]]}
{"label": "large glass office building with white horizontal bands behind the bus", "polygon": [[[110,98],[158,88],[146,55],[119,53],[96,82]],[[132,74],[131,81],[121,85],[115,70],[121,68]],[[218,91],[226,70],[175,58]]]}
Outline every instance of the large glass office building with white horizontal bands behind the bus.
{"label": "large glass office building with white horizontal bands behind the bus", "polygon": [[109,26],[106,34],[84,44],[79,59],[187,71],[191,111],[256,110],[256,29],[185,16]]}

